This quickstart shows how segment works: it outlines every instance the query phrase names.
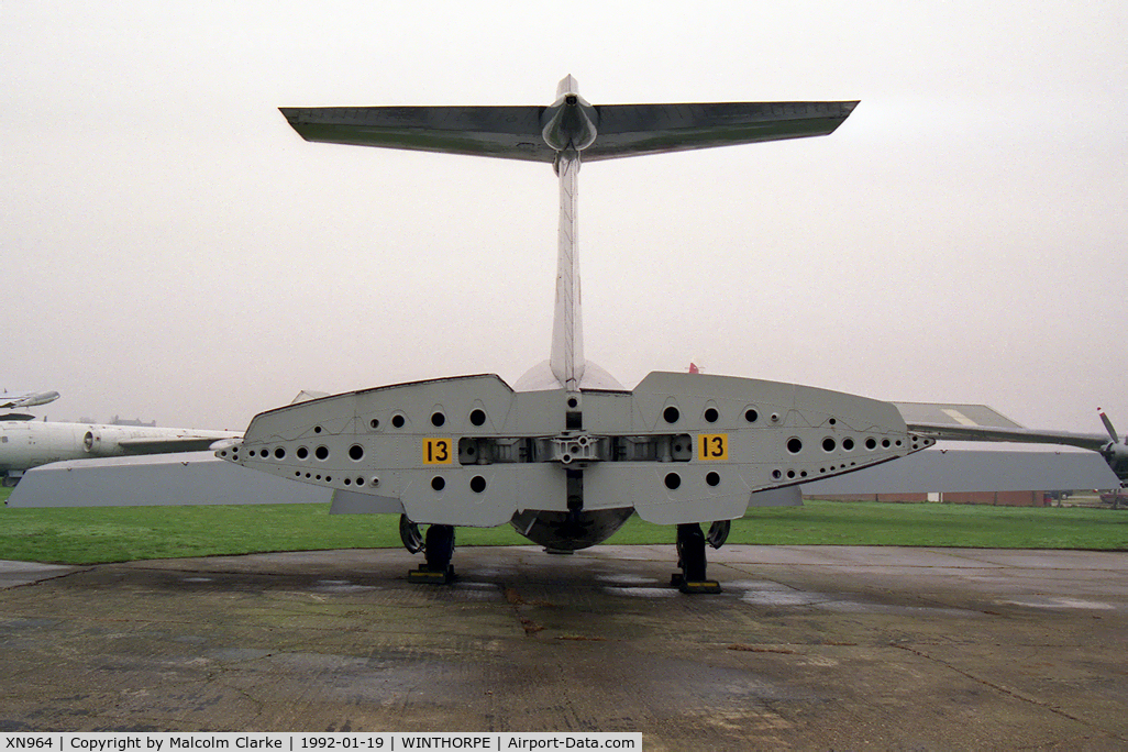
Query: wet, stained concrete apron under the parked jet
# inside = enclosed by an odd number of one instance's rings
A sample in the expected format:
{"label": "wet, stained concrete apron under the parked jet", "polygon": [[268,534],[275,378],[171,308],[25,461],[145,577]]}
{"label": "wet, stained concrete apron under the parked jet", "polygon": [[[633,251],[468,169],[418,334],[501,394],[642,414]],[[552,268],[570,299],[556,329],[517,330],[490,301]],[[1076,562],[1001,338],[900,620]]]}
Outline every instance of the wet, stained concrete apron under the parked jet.
{"label": "wet, stained concrete apron under the parked jet", "polygon": [[9,563],[0,729],[1128,747],[1128,554],[711,555],[720,595],[669,587],[672,546],[460,548],[451,586],[409,584],[402,550]]}

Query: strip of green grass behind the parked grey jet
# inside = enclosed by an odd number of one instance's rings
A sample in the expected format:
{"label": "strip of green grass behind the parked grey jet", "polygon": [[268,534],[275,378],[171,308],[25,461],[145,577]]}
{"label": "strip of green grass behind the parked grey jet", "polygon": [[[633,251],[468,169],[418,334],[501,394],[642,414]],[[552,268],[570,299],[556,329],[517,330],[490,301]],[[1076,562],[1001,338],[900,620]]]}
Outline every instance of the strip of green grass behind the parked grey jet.
{"label": "strip of green grass behind the parked grey jet", "polygon": [[[0,502],[9,493],[0,492]],[[632,517],[608,543],[672,541],[672,528]],[[458,530],[459,546],[528,542],[509,525]],[[729,542],[1128,550],[1128,511],[812,501],[802,507],[751,510],[733,522]],[[398,517],[331,516],[327,504],[0,507],[0,559],[98,564],[399,546]]]}

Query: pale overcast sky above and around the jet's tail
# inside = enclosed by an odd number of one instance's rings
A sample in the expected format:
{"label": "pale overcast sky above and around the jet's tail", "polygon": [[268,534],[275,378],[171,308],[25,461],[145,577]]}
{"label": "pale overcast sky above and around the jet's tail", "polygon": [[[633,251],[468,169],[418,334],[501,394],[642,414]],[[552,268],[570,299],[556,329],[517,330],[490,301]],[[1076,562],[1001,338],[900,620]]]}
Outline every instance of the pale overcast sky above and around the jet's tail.
{"label": "pale overcast sky above and around the jet's tail", "polygon": [[[645,7],[645,11],[641,9]],[[1128,431],[1123,2],[0,8],[0,387],[243,428],[548,356],[546,165],[302,141],[279,106],[861,99],[823,139],[580,174],[589,359]],[[483,8],[488,8],[486,12]]]}

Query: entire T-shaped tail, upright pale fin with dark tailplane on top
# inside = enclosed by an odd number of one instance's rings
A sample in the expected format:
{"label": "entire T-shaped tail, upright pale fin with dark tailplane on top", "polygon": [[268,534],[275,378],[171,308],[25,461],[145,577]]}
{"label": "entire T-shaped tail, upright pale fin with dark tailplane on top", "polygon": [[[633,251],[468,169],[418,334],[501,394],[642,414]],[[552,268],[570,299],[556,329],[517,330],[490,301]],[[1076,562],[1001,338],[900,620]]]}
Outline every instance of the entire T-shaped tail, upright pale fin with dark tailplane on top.
{"label": "entire T-shaped tail, upright pale fin with dark tailplane on top", "polygon": [[585,361],[580,315],[580,161],[827,135],[856,101],[592,106],[566,76],[547,107],[282,108],[307,141],[552,162],[561,182],[556,307],[549,365],[569,391]]}

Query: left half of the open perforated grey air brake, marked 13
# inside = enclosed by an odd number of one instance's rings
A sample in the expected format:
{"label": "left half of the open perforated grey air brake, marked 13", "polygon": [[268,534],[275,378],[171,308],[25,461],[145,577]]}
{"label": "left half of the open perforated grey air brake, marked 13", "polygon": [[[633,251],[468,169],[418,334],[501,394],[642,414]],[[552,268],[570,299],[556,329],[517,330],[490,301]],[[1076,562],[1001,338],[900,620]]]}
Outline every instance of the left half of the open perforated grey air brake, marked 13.
{"label": "left half of the open perforated grey air brake, marked 13", "polygon": [[493,374],[439,379],[263,413],[241,444],[218,453],[346,492],[340,512],[385,511],[398,499],[415,522],[494,527],[530,505],[567,508],[559,466],[529,457],[530,440],[563,430],[564,415],[563,390],[514,393]]}

